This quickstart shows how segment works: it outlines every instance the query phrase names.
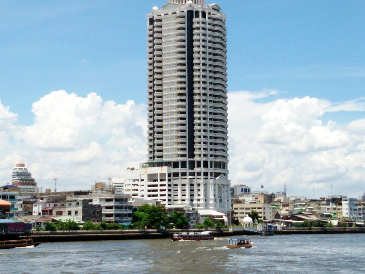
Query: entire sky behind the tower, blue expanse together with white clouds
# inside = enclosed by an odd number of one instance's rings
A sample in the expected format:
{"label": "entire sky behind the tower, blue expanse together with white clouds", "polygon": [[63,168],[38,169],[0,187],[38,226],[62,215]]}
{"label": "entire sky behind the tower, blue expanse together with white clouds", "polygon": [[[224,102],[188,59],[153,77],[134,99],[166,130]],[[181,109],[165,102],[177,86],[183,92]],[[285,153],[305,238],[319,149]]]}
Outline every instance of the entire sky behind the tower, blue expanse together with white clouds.
{"label": "entire sky behind the tower, blue expanse together with white clouds", "polygon": [[[0,185],[90,189],[147,160],[146,14],[167,0],[0,2]],[[207,4],[214,3],[206,1]],[[231,184],[365,191],[364,1],[216,1]]]}

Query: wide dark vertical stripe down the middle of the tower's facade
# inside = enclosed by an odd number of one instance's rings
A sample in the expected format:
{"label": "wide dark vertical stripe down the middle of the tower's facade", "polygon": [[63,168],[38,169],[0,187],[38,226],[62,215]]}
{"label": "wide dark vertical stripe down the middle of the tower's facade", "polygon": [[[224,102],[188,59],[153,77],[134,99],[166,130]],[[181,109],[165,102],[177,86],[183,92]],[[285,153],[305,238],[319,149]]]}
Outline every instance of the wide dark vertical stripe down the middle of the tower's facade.
{"label": "wide dark vertical stripe down the middle of the tower's facade", "polygon": [[194,158],[194,69],[193,69],[193,18],[194,11],[187,11],[187,127],[188,159]]}

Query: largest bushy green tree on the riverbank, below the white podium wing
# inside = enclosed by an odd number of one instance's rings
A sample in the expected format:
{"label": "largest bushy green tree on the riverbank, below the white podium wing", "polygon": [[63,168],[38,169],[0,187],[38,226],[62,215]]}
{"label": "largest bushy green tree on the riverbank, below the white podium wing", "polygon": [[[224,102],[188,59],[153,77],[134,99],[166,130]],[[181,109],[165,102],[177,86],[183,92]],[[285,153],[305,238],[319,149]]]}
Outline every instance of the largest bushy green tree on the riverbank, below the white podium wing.
{"label": "largest bushy green tree on the riverbank, below the white podium wing", "polygon": [[161,206],[142,205],[138,211],[133,212],[132,222],[135,228],[143,229],[144,227],[160,228],[169,224],[169,218]]}

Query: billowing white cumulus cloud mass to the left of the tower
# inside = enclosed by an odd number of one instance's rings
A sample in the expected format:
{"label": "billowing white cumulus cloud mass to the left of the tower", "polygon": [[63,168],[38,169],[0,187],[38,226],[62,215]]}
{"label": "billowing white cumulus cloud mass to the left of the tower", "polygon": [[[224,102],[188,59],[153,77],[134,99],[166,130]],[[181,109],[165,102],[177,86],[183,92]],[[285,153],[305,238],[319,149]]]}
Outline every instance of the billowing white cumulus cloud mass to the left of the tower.
{"label": "billowing white cumulus cloud mass to the left of the tower", "polygon": [[[7,132],[15,140],[4,155],[10,165],[0,163],[3,180],[11,180],[11,169],[22,158],[41,186],[52,187],[57,177],[60,186],[89,189],[94,180],[105,182],[109,176],[123,174],[127,166],[137,167],[136,163],[146,160],[145,104],[131,100],[116,104],[103,102],[95,93],[84,98],[53,91],[35,102],[32,112],[32,125]],[[16,157],[10,157],[13,154]]]}

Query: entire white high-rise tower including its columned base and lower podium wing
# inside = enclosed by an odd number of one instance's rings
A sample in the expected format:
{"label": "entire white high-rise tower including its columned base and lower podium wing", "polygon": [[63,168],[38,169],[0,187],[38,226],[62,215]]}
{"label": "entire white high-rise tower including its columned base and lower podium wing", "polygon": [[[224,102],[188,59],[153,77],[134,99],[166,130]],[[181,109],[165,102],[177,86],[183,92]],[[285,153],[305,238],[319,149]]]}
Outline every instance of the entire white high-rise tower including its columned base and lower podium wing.
{"label": "entire white high-rise tower including its columned base and lower podium wing", "polygon": [[204,0],[169,0],[147,15],[148,162],[135,178],[140,198],[230,215],[225,22],[219,5]]}

